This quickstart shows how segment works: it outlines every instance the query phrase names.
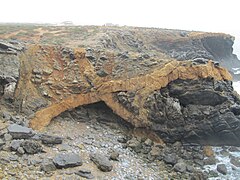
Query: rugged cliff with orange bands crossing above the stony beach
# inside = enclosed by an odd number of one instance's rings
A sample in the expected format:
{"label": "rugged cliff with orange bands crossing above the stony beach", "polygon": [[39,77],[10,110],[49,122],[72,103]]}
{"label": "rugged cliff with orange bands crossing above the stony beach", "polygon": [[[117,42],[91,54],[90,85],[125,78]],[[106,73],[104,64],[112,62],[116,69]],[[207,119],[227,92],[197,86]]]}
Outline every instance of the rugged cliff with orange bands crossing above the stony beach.
{"label": "rugged cliff with orange bands crossing above the stony beach", "polygon": [[[165,142],[240,145],[239,96],[221,67],[239,63],[232,36],[77,30],[36,27],[29,37],[1,37],[7,39],[0,42],[1,101],[28,115],[30,127],[41,130],[67,110],[104,102],[134,128]],[[44,33],[55,39],[46,41]],[[53,43],[57,38],[64,40],[61,45]]]}

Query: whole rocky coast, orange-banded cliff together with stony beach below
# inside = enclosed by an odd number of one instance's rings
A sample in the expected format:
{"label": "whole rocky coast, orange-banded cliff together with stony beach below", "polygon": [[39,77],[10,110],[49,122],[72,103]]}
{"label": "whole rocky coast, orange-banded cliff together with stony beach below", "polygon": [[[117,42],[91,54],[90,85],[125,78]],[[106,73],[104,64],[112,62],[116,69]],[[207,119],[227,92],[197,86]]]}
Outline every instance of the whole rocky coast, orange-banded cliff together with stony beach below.
{"label": "whole rocky coast, orange-banded cliff together with stony beach below", "polygon": [[232,36],[29,29],[0,41],[0,179],[239,176]]}

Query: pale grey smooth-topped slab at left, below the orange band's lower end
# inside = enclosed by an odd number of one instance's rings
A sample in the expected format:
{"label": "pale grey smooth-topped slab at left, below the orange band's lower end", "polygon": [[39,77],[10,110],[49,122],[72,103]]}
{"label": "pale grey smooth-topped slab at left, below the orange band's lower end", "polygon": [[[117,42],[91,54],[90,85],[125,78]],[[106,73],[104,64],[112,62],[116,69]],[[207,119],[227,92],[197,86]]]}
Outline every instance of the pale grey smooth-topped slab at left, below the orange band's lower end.
{"label": "pale grey smooth-topped slab at left, below the orange band's lower end", "polygon": [[8,127],[8,132],[13,139],[28,139],[34,135],[31,128],[20,126],[18,124],[11,124]]}

